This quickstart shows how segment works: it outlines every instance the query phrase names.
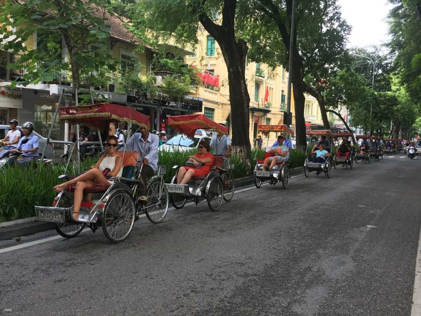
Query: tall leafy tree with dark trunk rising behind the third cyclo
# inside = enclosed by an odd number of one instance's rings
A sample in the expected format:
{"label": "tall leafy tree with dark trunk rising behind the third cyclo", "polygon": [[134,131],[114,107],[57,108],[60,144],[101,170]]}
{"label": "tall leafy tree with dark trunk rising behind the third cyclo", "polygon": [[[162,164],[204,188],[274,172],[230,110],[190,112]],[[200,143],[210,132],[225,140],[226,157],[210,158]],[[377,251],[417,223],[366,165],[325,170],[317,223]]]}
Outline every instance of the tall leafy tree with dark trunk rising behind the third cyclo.
{"label": "tall leafy tree with dark trunk rising behind the third cyclo", "polygon": [[[240,29],[245,29],[248,35],[251,58],[288,68],[292,0],[253,0],[246,6],[243,11],[252,12],[251,18],[247,20],[242,14]],[[304,93],[317,99],[323,123],[329,128],[324,100],[326,82],[346,60],[350,27],[341,18],[336,0],[296,0],[295,25],[293,68],[288,70],[293,84],[297,145],[304,147]],[[270,52],[281,53],[270,55]]]}

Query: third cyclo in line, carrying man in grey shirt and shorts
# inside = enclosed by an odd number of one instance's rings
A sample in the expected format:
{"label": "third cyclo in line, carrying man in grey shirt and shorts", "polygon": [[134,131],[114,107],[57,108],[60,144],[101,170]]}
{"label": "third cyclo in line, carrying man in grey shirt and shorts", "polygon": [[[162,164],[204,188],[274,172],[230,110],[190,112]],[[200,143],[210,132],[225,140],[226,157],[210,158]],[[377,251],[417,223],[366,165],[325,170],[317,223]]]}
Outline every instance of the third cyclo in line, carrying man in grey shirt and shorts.
{"label": "third cyclo in line, carrying man in grey shirt and shorts", "polygon": [[[294,132],[290,130],[286,125],[258,125],[257,130],[258,132],[262,132],[263,134],[265,134],[265,138],[267,137],[266,149],[268,148],[268,145],[269,145],[270,132],[275,132],[276,134],[279,132],[281,133],[287,132],[287,133],[290,133],[291,135],[294,134]],[[264,140],[262,141],[262,143],[263,142]],[[256,188],[260,188],[262,185],[262,182],[266,181],[271,186],[274,186],[278,182],[282,182],[283,188],[287,189],[290,178],[291,178],[290,170],[288,167],[289,155],[290,153],[288,152],[286,159],[283,161],[277,162],[276,165],[274,165],[274,167],[272,168],[272,170],[263,171],[264,160],[269,157],[274,157],[275,153],[265,151],[263,160],[259,160],[256,158],[257,156],[257,151],[256,151],[256,155],[254,157],[254,159],[256,159],[256,166],[254,167],[254,170],[253,170],[254,185],[256,186]]]}

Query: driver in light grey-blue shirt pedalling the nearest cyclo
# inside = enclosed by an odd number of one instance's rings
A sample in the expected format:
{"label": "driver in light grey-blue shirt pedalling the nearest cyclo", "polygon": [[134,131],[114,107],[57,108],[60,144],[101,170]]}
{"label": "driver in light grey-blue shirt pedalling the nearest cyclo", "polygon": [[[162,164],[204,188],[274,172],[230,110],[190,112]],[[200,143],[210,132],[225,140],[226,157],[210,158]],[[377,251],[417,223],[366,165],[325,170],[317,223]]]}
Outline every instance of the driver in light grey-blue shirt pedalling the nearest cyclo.
{"label": "driver in light grey-blue shirt pedalling the nearest cyclo", "polygon": [[[144,185],[140,186],[138,193],[141,201],[147,201],[145,196],[146,183],[158,168],[158,144],[158,135],[149,133],[147,127],[141,127],[140,133],[134,133],[125,145],[126,151],[137,151],[139,153],[138,162],[143,163],[140,176]],[[120,149],[120,151],[123,150],[124,148]]]}

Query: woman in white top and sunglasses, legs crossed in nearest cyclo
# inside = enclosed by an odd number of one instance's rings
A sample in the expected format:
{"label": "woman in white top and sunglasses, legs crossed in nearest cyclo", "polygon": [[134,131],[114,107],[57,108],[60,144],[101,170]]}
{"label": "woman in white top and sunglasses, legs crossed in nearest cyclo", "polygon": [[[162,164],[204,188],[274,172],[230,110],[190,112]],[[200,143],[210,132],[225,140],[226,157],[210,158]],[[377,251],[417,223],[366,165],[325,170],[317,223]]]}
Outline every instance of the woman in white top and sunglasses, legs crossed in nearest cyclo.
{"label": "woman in white top and sunglasses, legs crossed in nearest cyclo", "polygon": [[96,164],[91,167],[91,170],[77,176],[70,181],[66,181],[54,187],[54,190],[60,192],[67,189],[72,184],[76,184],[72,215],[74,220],[79,218],[80,204],[83,199],[84,189],[96,184],[104,184],[106,186],[112,185],[112,181],[105,178],[103,174],[105,169],[109,169],[107,177],[121,176],[123,171],[123,168],[121,168],[121,162],[123,158],[117,154],[117,142],[117,137],[108,136],[106,141],[107,153],[99,158],[98,162],[96,162]]}

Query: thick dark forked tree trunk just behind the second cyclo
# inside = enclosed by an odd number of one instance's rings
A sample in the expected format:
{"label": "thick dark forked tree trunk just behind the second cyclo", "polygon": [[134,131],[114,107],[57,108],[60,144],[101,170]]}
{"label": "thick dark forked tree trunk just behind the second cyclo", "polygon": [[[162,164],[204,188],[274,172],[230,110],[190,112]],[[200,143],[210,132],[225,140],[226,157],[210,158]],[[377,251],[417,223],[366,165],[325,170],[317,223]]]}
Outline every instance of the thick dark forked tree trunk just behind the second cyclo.
{"label": "thick dark forked tree trunk just behind the second cyclo", "polygon": [[251,172],[251,146],[249,138],[249,106],[245,80],[245,57],[248,47],[244,40],[237,40],[234,19],[237,1],[224,0],[222,25],[215,24],[205,13],[200,23],[218,42],[228,71],[229,103],[232,114],[232,154],[240,156]]}

